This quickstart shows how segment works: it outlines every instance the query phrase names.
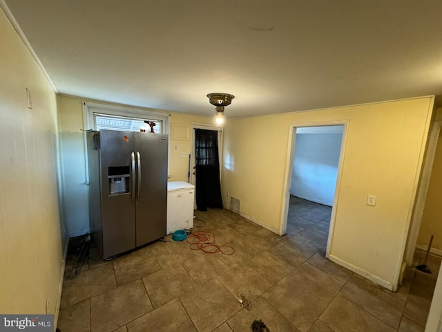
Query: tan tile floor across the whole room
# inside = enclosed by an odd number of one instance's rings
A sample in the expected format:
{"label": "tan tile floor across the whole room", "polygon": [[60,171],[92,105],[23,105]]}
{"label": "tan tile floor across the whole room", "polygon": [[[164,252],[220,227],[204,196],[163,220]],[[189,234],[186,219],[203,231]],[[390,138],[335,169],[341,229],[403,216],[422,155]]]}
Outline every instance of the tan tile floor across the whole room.
{"label": "tan tile floor across the whole room", "polygon": [[81,273],[64,280],[58,327],[224,332],[252,331],[261,320],[271,332],[424,331],[440,258],[427,263],[432,275],[407,268],[399,291],[387,291],[325,259],[330,213],[292,197],[279,237],[229,210],[195,211],[205,224],[196,220],[194,231],[213,232],[233,255],[170,236],[112,261],[92,248]]}

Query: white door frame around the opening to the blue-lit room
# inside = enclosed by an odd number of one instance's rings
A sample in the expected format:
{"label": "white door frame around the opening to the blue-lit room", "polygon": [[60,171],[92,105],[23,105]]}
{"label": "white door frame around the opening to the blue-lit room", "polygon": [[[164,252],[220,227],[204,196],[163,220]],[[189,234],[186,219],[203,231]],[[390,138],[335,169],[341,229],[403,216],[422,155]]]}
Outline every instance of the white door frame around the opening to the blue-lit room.
{"label": "white door frame around the opening to the blue-lit room", "polygon": [[336,206],[338,205],[338,199],[339,199],[340,181],[341,181],[343,163],[345,158],[345,146],[347,144],[349,120],[304,122],[304,123],[300,122],[289,125],[289,143],[287,145],[286,172],[283,183],[284,196],[282,198],[281,221],[279,229],[280,235],[285,234],[285,230],[287,228],[288,213],[289,213],[291,174],[293,170],[295,147],[296,147],[296,129],[300,127],[326,127],[326,126],[338,126],[338,125],[343,125],[344,128],[343,128],[342,142],[340,143],[338,174],[336,175],[336,187],[334,190],[332,216],[330,217],[330,228],[327,239],[327,249],[325,254],[327,258],[329,257],[330,251],[332,250],[334,221],[336,218]]}

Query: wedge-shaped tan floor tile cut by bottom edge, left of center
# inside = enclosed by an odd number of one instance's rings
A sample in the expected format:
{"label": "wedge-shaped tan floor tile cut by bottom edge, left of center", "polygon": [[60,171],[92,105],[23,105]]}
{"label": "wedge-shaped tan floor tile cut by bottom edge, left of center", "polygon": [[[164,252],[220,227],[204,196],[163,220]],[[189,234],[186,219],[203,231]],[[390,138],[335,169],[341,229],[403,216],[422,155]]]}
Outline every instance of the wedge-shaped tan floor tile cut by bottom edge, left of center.
{"label": "wedge-shaped tan floor tile cut by bottom edge, left of center", "polygon": [[189,315],[187,315],[180,299],[171,302],[146,313],[140,318],[127,324],[128,332],[184,332],[197,331]]}

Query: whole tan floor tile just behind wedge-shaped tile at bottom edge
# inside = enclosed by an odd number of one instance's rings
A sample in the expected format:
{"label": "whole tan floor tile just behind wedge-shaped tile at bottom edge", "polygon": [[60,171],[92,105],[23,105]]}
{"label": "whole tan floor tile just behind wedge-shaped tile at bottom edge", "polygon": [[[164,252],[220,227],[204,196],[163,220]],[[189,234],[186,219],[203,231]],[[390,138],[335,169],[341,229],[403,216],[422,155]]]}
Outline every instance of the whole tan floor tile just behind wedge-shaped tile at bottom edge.
{"label": "whole tan floor tile just behind wedge-shaped tile at bottom edge", "polygon": [[143,282],[153,308],[158,308],[197,286],[180,263],[144,277]]}

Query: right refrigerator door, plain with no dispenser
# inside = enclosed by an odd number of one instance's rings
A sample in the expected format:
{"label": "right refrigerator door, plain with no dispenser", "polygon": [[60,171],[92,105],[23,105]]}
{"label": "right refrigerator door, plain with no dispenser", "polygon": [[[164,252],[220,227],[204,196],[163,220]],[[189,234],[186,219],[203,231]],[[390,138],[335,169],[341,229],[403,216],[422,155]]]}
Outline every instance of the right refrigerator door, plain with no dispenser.
{"label": "right refrigerator door, plain with no dispenser", "polygon": [[135,212],[136,246],[142,246],[166,234],[168,136],[135,133],[135,137],[141,174]]}

